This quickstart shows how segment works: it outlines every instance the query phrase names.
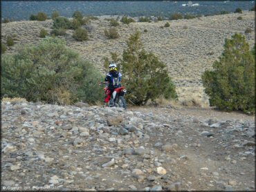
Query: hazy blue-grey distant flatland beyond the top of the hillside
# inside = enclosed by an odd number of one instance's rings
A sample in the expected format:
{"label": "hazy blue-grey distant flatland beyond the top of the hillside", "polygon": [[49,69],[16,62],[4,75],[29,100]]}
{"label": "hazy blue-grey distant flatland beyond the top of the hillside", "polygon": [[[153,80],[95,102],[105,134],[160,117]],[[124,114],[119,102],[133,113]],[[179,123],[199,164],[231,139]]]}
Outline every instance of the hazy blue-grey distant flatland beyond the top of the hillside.
{"label": "hazy blue-grey distant flatland beyond the top of the hillside", "polygon": [[235,12],[237,8],[250,10],[255,1],[1,1],[3,18],[15,21],[29,20],[30,15],[54,10],[64,17],[72,17],[79,10],[89,15],[127,15],[170,17],[172,13],[215,15],[221,11]]}

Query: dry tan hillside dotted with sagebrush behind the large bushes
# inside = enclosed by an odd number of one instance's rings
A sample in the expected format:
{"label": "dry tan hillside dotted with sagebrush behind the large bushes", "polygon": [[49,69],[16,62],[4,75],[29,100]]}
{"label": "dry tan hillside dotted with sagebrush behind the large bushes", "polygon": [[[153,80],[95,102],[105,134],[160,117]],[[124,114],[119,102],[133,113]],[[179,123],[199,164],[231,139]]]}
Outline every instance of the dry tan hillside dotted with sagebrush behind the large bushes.
{"label": "dry tan hillside dotted with sagebrush behind the large bushes", "polygon": [[[106,17],[91,20],[87,26],[90,29],[89,41],[75,41],[72,37],[73,30],[68,30],[68,35],[64,37],[67,45],[102,70],[103,57],[110,59],[110,52],[117,52],[121,56],[129,35],[139,30],[142,32],[141,39],[145,50],[154,52],[167,64],[170,76],[177,86],[180,102],[183,104],[189,103],[191,99],[202,106],[208,104],[208,99],[203,93],[201,75],[205,70],[211,69],[213,62],[221,55],[225,38],[239,32],[246,35],[250,46],[255,44],[253,11],[176,21],[136,22],[129,25],[120,23],[117,27],[120,35],[118,39],[105,37],[104,30],[111,27],[109,21],[104,20]],[[242,19],[239,20],[237,17]],[[170,23],[170,28],[161,28],[166,22]],[[40,30],[44,28],[51,32],[52,26],[51,19],[2,23],[1,39],[5,43],[8,35],[16,35],[15,46],[8,48],[8,52],[15,52],[19,44],[36,44],[41,39]],[[245,33],[246,28],[250,28],[252,32]]]}

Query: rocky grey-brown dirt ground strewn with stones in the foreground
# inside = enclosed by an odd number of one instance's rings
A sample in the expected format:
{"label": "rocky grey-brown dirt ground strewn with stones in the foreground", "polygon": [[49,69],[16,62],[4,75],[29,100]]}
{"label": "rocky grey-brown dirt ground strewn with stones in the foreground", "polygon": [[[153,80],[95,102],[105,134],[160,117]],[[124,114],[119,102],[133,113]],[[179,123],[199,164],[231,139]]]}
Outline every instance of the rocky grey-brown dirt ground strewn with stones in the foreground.
{"label": "rocky grey-brown dirt ground strewn with stones in the foreground", "polygon": [[1,189],[255,191],[255,117],[1,102],[1,155]]}

